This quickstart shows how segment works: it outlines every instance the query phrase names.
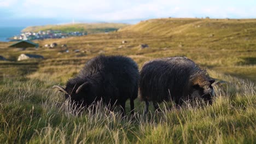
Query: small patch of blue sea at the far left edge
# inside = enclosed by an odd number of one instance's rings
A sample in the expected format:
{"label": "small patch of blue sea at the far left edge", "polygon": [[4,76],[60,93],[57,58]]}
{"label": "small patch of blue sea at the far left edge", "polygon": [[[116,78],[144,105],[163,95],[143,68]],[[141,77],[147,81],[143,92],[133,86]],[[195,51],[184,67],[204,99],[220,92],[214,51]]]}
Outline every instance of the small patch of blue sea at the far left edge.
{"label": "small patch of blue sea at the far left edge", "polygon": [[0,27],[0,41],[9,41],[8,38],[19,35],[25,27]]}

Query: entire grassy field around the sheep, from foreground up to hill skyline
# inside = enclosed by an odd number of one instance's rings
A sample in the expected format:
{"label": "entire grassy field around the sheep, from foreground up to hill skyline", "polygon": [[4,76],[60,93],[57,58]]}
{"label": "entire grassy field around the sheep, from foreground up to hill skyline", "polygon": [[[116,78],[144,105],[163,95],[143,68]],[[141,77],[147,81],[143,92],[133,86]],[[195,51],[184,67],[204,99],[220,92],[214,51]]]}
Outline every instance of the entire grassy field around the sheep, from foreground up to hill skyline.
{"label": "entire grassy field around the sheep, from foreground up to hill skyline", "polygon": [[[255,143],[255,26],[256,20],[155,19],[108,34],[34,41],[67,44],[68,53],[60,46],[21,51],[0,43],[0,55],[9,60],[0,61],[0,143]],[[17,62],[21,53],[45,59]],[[135,116],[121,118],[119,107],[110,112],[102,104],[78,115],[51,87],[64,86],[99,54],[129,56],[139,67],[187,56],[226,83],[214,85],[213,105],[164,103],[160,113],[150,105],[144,116],[144,103],[136,100]]]}

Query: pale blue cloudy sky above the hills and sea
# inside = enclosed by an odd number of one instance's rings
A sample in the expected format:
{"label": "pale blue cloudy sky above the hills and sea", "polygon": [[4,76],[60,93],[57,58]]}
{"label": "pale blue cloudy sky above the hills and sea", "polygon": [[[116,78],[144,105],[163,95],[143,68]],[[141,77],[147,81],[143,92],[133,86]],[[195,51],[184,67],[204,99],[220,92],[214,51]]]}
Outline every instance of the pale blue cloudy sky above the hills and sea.
{"label": "pale blue cloudy sky above the hills and sea", "polygon": [[0,26],[124,22],[161,17],[256,18],[255,0],[0,0]]}

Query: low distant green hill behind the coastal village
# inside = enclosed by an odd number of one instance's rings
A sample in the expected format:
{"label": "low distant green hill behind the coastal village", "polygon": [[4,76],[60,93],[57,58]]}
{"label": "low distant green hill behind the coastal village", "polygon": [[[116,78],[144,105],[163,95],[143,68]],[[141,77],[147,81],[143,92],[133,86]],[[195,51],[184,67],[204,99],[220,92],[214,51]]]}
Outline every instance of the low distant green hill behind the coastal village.
{"label": "low distant green hill behind the coastal village", "polygon": [[124,28],[129,26],[124,23],[75,23],[75,24],[65,24],[65,25],[46,25],[46,26],[31,26],[25,29],[22,29],[22,32],[38,32],[38,31],[47,31],[55,30],[62,32],[87,32],[91,33],[102,33],[102,32],[111,32],[117,31],[119,28]]}

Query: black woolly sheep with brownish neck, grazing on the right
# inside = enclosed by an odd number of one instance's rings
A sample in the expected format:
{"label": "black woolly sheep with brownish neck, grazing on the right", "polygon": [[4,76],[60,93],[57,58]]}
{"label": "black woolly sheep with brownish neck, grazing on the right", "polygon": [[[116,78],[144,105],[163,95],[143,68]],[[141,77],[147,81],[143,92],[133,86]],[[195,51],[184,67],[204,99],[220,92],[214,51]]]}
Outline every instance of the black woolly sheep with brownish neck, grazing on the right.
{"label": "black woolly sheep with brownish neck, grazing on the right", "polygon": [[154,59],[146,62],[140,73],[139,91],[146,103],[145,113],[149,101],[156,110],[162,101],[181,105],[183,100],[202,98],[212,103],[214,80],[187,57]]}

